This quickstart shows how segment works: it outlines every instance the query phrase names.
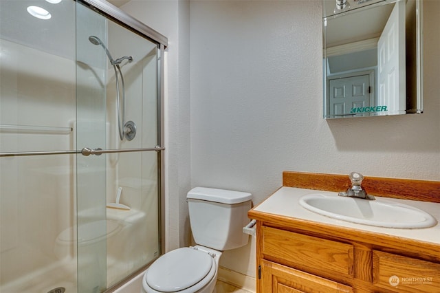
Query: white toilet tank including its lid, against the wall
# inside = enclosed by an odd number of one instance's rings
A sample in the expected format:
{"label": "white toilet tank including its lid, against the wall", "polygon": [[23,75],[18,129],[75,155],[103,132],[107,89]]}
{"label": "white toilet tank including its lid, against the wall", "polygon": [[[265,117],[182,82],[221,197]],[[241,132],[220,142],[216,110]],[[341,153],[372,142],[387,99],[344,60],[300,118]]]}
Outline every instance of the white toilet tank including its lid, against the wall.
{"label": "white toilet tank including its lid, against the wall", "polygon": [[197,244],[215,250],[245,246],[249,235],[243,227],[249,223],[252,195],[239,191],[196,187],[186,196],[192,236]]}

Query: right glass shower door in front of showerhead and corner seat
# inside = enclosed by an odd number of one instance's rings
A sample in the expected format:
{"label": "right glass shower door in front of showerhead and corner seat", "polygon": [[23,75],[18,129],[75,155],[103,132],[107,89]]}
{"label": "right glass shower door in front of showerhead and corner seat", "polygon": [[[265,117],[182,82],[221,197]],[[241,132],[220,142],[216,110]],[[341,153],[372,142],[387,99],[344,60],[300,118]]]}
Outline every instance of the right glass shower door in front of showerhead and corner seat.
{"label": "right glass shower door in front of showerhead and corner seat", "polygon": [[78,292],[153,261],[159,242],[158,45],[77,2]]}

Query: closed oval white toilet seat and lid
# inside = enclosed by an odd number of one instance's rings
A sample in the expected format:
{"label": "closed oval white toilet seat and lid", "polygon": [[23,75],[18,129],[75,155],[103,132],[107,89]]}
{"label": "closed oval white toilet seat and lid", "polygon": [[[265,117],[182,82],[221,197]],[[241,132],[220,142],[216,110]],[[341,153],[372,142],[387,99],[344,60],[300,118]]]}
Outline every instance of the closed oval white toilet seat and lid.
{"label": "closed oval white toilet seat and lid", "polygon": [[215,275],[217,265],[207,252],[178,248],[159,257],[146,271],[146,292],[197,292]]}

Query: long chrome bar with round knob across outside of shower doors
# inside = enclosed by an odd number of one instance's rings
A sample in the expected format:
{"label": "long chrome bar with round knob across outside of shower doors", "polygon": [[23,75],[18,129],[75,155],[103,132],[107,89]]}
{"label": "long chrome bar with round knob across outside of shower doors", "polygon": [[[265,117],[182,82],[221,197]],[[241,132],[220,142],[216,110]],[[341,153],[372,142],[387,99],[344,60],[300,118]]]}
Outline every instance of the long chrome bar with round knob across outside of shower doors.
{"label": "long chrome bar with round knob across outside of shower doors", "polygon": [[101,155],[102,153],[131,153],[131,152],[141,152],[141,151],[164,151],[165,148],[162,146],[155,146],[153,148],[140,148],[140,149],[89,149],[85,147],[81,150],[74,151],[21,151],[14,153],[0,153],[1,157],[21,157],[25,155],[72,155],[72,154],[82,154],[82,155]]}

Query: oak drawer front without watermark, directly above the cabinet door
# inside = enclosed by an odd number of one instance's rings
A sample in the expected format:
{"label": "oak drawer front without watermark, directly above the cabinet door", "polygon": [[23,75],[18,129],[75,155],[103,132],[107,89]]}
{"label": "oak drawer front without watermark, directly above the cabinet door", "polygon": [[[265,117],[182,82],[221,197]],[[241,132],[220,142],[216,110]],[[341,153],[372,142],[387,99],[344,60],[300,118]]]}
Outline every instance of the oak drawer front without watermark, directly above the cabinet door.
{"label": "oak drawer front without watermark, directly above the cabinet door", "polygon": [[353,246],[327,239],[262,227],[261,252],[289,263],[353,277]]}

